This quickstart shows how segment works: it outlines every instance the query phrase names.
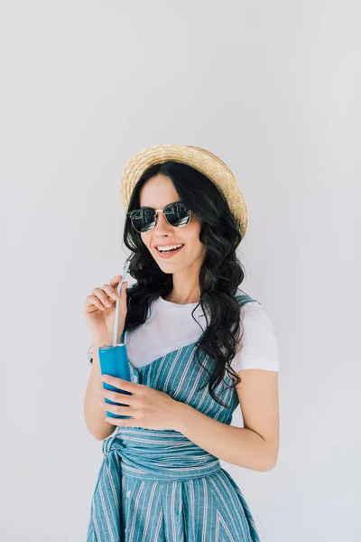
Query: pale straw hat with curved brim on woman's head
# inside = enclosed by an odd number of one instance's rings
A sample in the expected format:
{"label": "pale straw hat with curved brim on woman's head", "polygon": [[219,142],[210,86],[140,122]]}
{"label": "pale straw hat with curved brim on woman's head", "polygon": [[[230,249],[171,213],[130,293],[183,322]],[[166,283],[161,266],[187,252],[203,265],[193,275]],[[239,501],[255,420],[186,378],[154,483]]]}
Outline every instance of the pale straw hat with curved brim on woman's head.
{"label": "pale straw hat with curved brim on woman's head", "polygon": [[218,186],[225,195],[237,227],[244,238],[248,223],[247,208],[233,173],[218,156],[195,146],[151,145],[135,154],[125,165],[120,179],[120,196],[125,212],[128,210],[134,186],[143,172],[149,166],[162,164],[167,160],[191,165]]}

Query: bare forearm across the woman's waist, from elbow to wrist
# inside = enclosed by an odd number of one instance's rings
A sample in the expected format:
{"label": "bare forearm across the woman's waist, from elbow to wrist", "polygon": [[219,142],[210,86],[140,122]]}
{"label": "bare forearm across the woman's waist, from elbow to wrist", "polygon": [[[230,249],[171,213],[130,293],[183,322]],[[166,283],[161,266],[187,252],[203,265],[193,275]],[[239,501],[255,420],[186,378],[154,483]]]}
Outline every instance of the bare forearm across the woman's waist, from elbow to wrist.
{"label": "bare forearm across the woman's waist, from elbow to wrist", "polygon": [[218,459],[259,472],[273,468],[269,447],[255,431],[223,424],[185,403],[179,420],[174,429]]}

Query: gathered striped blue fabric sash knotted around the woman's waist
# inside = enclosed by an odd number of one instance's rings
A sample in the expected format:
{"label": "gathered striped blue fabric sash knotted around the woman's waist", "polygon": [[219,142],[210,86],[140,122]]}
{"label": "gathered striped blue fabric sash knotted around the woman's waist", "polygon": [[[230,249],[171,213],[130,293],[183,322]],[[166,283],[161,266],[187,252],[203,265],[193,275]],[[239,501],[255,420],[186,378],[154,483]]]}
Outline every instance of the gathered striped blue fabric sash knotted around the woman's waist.
{"label": "gathered striped blue fabric sash knotted around the woman's waist", "polygon": [[103,442],[102,451],[105,463],[121,462],[122,474],[141,480],[183,481],[221,470],[217,457],[171,429],[121,428]]}

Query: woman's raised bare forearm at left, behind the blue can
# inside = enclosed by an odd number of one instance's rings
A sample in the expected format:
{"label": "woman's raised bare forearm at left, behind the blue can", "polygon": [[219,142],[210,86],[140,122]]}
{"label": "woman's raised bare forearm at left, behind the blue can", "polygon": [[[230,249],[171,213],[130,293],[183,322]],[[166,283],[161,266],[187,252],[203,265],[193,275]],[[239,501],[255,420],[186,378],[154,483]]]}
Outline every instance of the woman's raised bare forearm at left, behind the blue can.
{"label": "woman's raised bare forearm at left, behind the blue can", "polygon": [[[84,398],[84,417],[88,432],[97,440],[103,440],[114,433],[116,426],[105,421],[104,408],[99,406],[99,394],[97,388],[103,388],[101,370],[99,363],[98,348],[105,343],[95,342],[93,344],[93,363],[88,379],[88,386]],[[108,343],[110,344],[110,342]]]}

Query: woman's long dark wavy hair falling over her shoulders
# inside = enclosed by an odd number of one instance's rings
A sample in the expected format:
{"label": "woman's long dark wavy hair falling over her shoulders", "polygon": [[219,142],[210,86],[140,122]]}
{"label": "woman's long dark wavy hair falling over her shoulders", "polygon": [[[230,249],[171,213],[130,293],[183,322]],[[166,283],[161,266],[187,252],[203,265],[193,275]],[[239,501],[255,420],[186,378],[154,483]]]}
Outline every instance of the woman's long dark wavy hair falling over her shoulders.
{"label": "woman's long dark wavy hair falling over her shoulders", "polygon": [[[208,390],[214,400],[225,406],[215,396],[214,388],[217,388],[226,371],[229,376],[236,378],[234,387],[241,381],[230,362],[235,357],[241,340],[241,307],[236,300],[236,291],[245,273],[236,257],[236,248],[242,235],[226,198],[216,184],[190,165],[180,162],[167,161],[149,167],[134,186],[128,211],[141,207],[140,191],[143,184],[160,173],[171,179],[180,201],[201,221],[199,241],[207,251],[199,271],[199,303],[206,316],[207,329],[202,330],[203,334],[196,343],[195,359],[206,369],[198,357],[198,350],[201,348],[215,360],[215,370],[208,380]],[[136,283],[127,289],[125,330],[130,331],[145,322],[154,299],[171,294],[173,280],[172,274],[162,272],[128,218],[125,220],[123,240],[132,253],[128,258],[128,272],[136,280]],[[193,318],[196,308],[192,311]],[[206,370],[210,374],[208,369]]]}

